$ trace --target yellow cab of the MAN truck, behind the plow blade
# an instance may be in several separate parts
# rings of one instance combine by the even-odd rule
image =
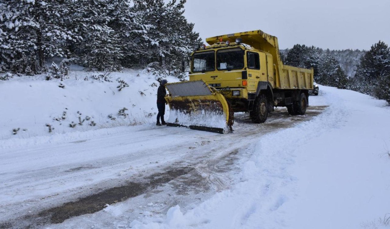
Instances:
[[[234,112],[248,110],[248,100],[255,100],[258,82],[273,87],[271,54],[250,45],[218,42],[198,48],[191,55],[190,80],[204,80],[222,90]]]

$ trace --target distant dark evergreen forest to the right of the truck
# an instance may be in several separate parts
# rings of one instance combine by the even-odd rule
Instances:
[[[390,48],[384,42],[359,50],[323,50],[296,44],[281,51],[286,65],[314,68],[314,79],[325,86],[351,89],[390,103]]]

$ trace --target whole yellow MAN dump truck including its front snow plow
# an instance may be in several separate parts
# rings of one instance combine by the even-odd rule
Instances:
[[[226,133],[234,112],[265,122],[274,107],[303,115],[313,69],[282,63],[278,39],[254,30],[206,39],[191,54],[190,81],[167,84],[168,126]]]

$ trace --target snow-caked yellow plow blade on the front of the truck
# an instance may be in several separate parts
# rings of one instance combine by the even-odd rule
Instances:
[[[232,131],[233,113],[222,94],[203,80],[166,84],[170,107],[167,126],[227,133]]]

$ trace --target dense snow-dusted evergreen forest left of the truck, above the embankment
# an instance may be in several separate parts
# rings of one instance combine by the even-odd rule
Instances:
[[[117,71],[158,62],[184,71],[200,42],[186,0],[0,0],[0,72],[33,75],[52,57]]]

